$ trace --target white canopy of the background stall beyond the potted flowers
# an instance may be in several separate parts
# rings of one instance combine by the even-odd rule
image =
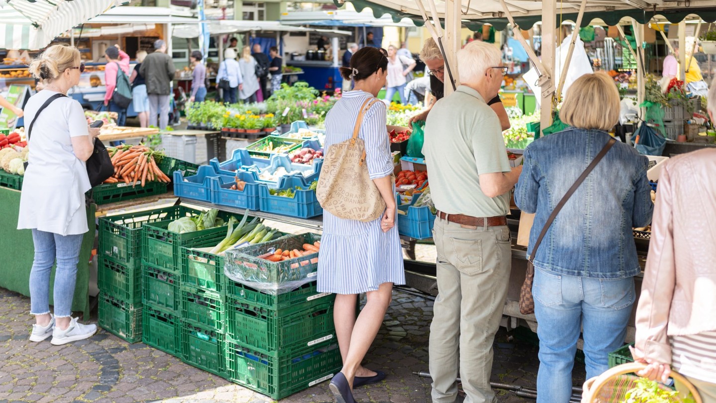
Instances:
[[[208,32],[212,35],[233,34],[236,32],[322,32],[327,36],[350,35],[350,32],[338,29],[309,29],[284,25],[278,21],[234,21],[220,20],[206,22]],[[174,27],[172,35],[178,38],[196,38],[199,36],[198,24],[181,24]]]

